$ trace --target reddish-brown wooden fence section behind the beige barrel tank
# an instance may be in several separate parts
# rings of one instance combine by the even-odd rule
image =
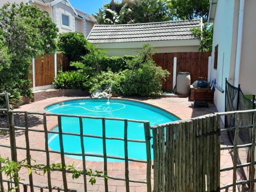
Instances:
[[[156,53],[153,59],[157,65],[166,69],[170,75],[163,82],[164,91],[173,91],[173,70],[174,57],[177,57],[177,72],[187,71],[190,73],[191,82],[200,77],[207,80],[208,77],[208,58],[210,52],[181,52],[181,53]]]

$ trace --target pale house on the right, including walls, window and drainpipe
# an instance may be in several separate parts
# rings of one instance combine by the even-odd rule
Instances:
[[[225,78],[244,94],[256,94],[256,1],[211,0],[209,22],[214,24],[211,79],[225,90]],[[219,112],[225,111],[225,92],[215,91]]]

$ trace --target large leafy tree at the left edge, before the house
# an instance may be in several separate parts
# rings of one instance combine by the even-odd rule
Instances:
[[[36,6],[7,3],[0,9],[0,92],[16,95],[16,101],[19,96],[31,96],[31,59],[56,49],[57,32],[49,14]]]

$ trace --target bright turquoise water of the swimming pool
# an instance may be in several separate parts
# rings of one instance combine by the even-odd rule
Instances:
[[[124,119],[136,119],[150,121],[151,125],[176,121],[178,118],[164,110],[141,102],[111,99],[106,104],[106,99],[81,99],[70,100],[48,106],[45,110],[51,113],[115,117]],[[62,132],[80,133],[79,119],[76,117],[61,117]],[[124,137],[124,122],[106,120],[106,137]],[[128,122],[128,139],[145,140],[143,123]],[[58,127],[54,128],[58,131]],[[102,136],[101,119],[83,119],[83,134]],[[63,135],[65,152],[81,153],[79,136]],[[49,134],[49,147],[60,151],[58,134]],[[84,137],[84,151],[86,153],[103,154],[102,139]],[[121,140],[106,140],[106,153],[109,156],[124,157],[124,142]],[[145,143],[128,142],[129,158],[146,159]],[[81,159],[81,156],[69,156]],[[153,153],[152,153],[153,157]],[[103,161],[103,158],[86,157],[89,161]],[[122,160],[110,159],[109,162]]]

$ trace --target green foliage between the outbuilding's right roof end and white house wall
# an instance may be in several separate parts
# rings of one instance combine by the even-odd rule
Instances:
[[[192,34],[196,37],[201,39],[200,42],[200,51],[209,51],[212,50],[212,38],[214,36],[214,27],[211,24],[205,23],[203,25],[203,31],[201,28],[193,28]]]

